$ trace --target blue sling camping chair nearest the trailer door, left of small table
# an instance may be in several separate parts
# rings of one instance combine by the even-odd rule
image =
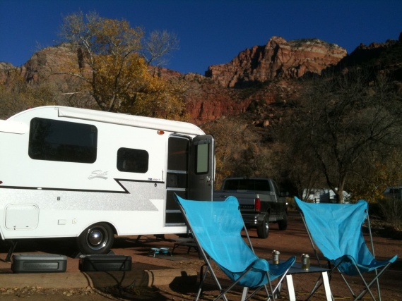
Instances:
[[[220,298],[227,300],[225,294],[235,285],[241,285],[244,288],[242,300],[249,300],[261,288],[265,288],[267,300],[270,298],[275,300],[283,278],[295,263],[295,257],[281,264],[270,265],[265,259],[260,259],[254,254],[236,197],[227,197],[219,202],[193,201],[182,199],[177,195],[175,199],[179,202],[187,226],[199,245],[199,252],[206,263],[206,271],[202,272],[201,269],[201,281],[196,300],[199,300],[208,272],[220,290],[220,295],[215,300]],[[246,231],[249,245],[242,238],[240,233],[242,229]],[[211,259],[232,281],[225,290],[213,271]],[[278,282],[273,288],[271,281],[275,279],[278,279]],[[266,284],[269,286],[269,291]],[[253,288],[254,292],[247,297],[248,288]]]

